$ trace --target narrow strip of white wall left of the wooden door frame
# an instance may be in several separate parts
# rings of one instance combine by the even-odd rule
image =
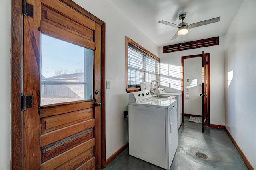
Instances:
[[[0,169],[11,160],[11,1],[0,0]]]

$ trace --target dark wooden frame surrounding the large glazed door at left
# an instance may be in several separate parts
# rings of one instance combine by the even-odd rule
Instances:
[[[100,20],[72,0],[61,0],[101,26],[101,167],[106,166],[106,129],[105,129],[105,30]],[[21,93],[23,86],[23,1],[12,0],[11,34],[11,113],[12,113],[12,160],[11,169],[23,169],[23,112],[21,111]]]

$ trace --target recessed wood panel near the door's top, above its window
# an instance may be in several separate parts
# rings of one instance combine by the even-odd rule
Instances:
[[[90,41],[94,41],[94,31],[92,29],[84,27],[84,25],[58,14],[46,6],[42,6],[42,21],[46,21],[52,25],[70,31],[76,35],[89,39]]]

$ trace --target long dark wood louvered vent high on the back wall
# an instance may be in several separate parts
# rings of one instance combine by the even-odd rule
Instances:
[[[200,39],[196,41],[190,41],[190,42],[182,43],[182,46],[180,45],[180,43],[174,44],[174,45],[167,45],[163,47],[163,53],[171,53],[174,51],[209,47],[213,45],[219,45],[219,37],[212,37],[212,38]]]

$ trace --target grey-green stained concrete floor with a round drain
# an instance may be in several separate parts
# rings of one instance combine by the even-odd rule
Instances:
[[[206,127],[191,123],[185,117],[178,130],[178,148],[170,170],[248,170],[240,154],[224,129]],[[202,152],[208,159],[198,158]],[[104,170],[163,170],[162,168],[129,155],[124,150]]]

